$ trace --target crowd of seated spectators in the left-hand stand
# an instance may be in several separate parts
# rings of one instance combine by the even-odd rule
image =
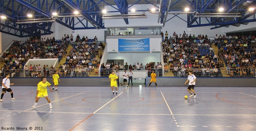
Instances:
[[[40,76],[41,70],[31,70],[28,65],[25,65],[27,60],[29,58],[58,58],[60,62],[60,59],[67,54],[68,45],[71,45],[73,48],[68,52],[66,63],[58,69],[60,76],[88,76],[94,70],[93,66],[99,65],[102,57],[102,53],[99,53],[98,49],[102,51],[104,46],[101,42],[98,45],[97,42],[96,36],[93,39],[88,39],[87,36],[81,39],[79,35],[73,41],[72,34],[70,37],[65,34],[62,40],[55,40],[54,37],[40,40],[35,37],[26,42],[14,41],[10,49],[3,53],[1,62],[4,63],[4,66],[1,67],[0,74],[4,76],[5,73],[11,73],[11,77],[13,77],[19,76],[24,71],[26,77],[35,77],[38,74]],[[99,60],[95,57],[96,55],[100,57]],[[42,74],[51,76],[51,70],[52,68],[48,65],[44,65]]]

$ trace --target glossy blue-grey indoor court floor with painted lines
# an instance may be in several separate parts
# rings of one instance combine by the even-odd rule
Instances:
[[[195,87],[196,98],[187,86],[58,87],[32,108],[36,87],[11,87],[0,103],[0,126],[29,130],[256,130],[255,87]],[[1,130],[4,130],[3,128]]]

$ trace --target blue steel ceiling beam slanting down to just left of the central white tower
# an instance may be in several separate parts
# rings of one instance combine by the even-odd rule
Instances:
[[[90,15],[88,15],[87,13],[85,13],[80,7],[79,4],[76,5],[72,0],[63,0],[62,2],[64,2],[65,4],[67,4],[70,8],[72,8],[73,10],[79,12],[80,15],[82,15],[88,22],[90,22],[96,29],[102,28],[102,26],[97,23],[94,19],[92,19],[92,17]]]

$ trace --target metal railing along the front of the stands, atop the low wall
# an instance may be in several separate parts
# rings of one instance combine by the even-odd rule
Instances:
[[[187,77],[188,76],[188,70],[192,70],[193,74],[196,77],[256,77],[256,69],[255,68],[231,68],[231,69],[225,69],[225,68],[219,68],[219,69],[213,69],[213,68],[168,68],[167,71],[164,68],[161,69],[150,69],[150,70],[140,70],[137,71],[136,69],[132,70],[132,72],[141,72],[141,73],[147,73],[147,76],[150,76],[152,71],[155,71],[156,75],[158,77]],[[72,69],[11,69],[11,70],[0,70],[0,77],[5,77],[6,73],[9,73],[11,77],[52,77],[53,74],[57,71],[60,77],[88,77],[88,76],[102,76],[106,77],[108,76],[111,71],[114,70],[116,73],[116,70],[118,70],[118,73],[120,74],[120,77],[122,77],[122,74],[124,70],[127,70],[127,74],[129,72],[129,69],[98,69],[98,68],[87,68],[87,67],[76,67]],[[136,75],[134,75],[136,77]]]

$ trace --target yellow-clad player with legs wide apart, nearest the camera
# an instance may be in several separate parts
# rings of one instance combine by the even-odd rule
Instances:
[[[46,100],[48,101],[49,105],[50,105],[50,109],[52,109],[52,104],[50,99],[48,98],[48,93],[47,93],[47,88],[49,87],[49,89],[51,91],[53,91],[51,89],[51,84],[46,80],[46,77],[42,77],[41,81],[37,84],[37,91],[36,91],[36,102],[35,104],[32,106],[33,108],[36,108],[37,102],[40,99],[40,97],[45,97]]]

